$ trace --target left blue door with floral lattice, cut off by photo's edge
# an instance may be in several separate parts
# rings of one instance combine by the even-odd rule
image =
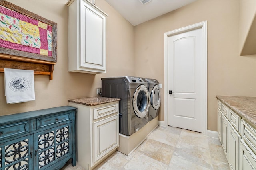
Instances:
[[[33,135],[0,144],[0,169],[33,170]]]

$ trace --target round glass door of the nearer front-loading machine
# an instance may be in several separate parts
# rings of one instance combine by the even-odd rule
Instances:
[[[148,113],[148,108],[150,105],[150,94],[145,85],[140,85],[134,92],[133,96],[133,109],[135,114],[143,118]]]

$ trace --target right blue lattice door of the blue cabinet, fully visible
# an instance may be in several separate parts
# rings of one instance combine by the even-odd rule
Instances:
[[[34,134],[35,169],[46,169],[72,154],[71,123]]]

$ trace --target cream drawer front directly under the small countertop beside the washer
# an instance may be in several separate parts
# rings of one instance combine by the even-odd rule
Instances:
[[[113,113],[118,113],[118,103],[94,108],[93,109],[93,119],[96,120],[101,117],[111,115]]]

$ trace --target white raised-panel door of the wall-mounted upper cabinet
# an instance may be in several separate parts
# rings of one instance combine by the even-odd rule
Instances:
[[[80,67],[105,71],[106,16],[80,2]]]

